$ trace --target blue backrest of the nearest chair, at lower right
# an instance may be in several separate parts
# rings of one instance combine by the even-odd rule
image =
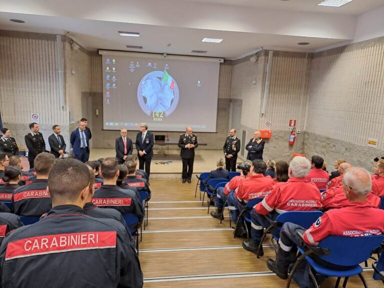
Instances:
[[[330,250],[321,259],[340,266],[352,266],[364,262],[384,240],[384,235],[374,236],[328,236],[318,244]]]

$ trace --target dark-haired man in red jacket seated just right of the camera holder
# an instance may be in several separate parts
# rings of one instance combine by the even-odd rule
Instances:
[[[263,160],[256,159],[252,161],[249,174],[235,192],[231,192],[228,195],[228,208],[231,218],[235,223],[239,211],[241,211],[246,202],[253,198],[262,198],[268,193],[274,184],[271,177],[265,177],[266,164]],[[242,221],[238,221],[239,226],[236,227],[235,235],[243,235],[246,233],[245,227]]]

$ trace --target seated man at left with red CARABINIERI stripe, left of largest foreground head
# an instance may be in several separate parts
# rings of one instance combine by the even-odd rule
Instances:
[[[48,175],[55,162],[53,154],[42,152],[34,158],[36,179],[13,192],[11,211],[22,216],[37,216],[49,211],[52,200],[46,190]],[[61,161],[61,160],[60,160]]]

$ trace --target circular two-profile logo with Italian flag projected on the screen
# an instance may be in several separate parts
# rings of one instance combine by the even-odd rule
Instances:
[[[169,116],[178,103],[177,83],[166,70],[150,72],[138,84],[137,100],[145,114],[154,118]]]

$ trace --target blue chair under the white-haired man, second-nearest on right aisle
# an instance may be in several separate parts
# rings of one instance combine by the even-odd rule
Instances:
[[[280,233],[280,229],[282,224],[285,222],[292,222],[294,224],[300,225],[304,229],[309,228],[320,216],[322,215],[321,211],[286,211],[279,214],[276,219],[273,221],[267,215],[265,215],[265,219],[270,222],[270,225],[264,230],[262,234],[260,244],[258,245],[257,250],[257,258],[260,258],[260,250],[262,247],[262,242],[264,241],[266,234],[270,232],[271,229],[276,229],[278,233]],[[272,244],[274,247],[274,251],[277,253],[279,234],[272,234]]]

